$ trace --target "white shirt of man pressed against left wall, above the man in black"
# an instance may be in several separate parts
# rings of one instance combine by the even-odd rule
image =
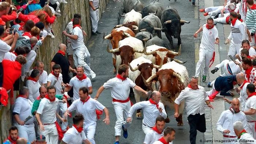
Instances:
[[[75,27],[72,31],[72,35],[78,36],[78,39],[76,40],[71,39],[72,50],[84,46],[83,31],[80,29],[80,27]]]

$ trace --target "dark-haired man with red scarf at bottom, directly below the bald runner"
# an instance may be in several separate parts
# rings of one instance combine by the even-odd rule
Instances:
[[[165,118],[158,116],[155,120],[155,126],[146,134],[143,144],[153,144],[163,136],[163,129],[165,128]]]

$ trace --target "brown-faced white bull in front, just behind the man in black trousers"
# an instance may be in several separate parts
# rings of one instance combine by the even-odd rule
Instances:
[[[149,77],[145,83],[158,80],[160,84],[161,102],[164,106],[174,109],[174,101],[182,90],[188,85],[188,71],[186,67],[175,61],[164,64],[157,73]],[[179,106],[179,117],[176,118],[178,126],[183,126],[182,113],[184,102]]]

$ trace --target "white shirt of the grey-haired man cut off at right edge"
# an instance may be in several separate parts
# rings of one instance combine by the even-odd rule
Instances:
[[[256,110],[256,95],[253,95],[252,97],[248,98],[245,103],[245,109],[244,111],[249,111],[250,109]],[[247,121],[256,121],[256,114],[253,115],[245,115]]]

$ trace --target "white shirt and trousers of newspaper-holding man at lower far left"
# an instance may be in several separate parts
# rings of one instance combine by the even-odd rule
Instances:
[[[19,119],[25,121],[26,118],[31,114],[33,102],[29,99],[26,99],[22,96],[19,96],[14,103],[14,109],[12,113],[18,113]],[[32,117],[30,120],[25,122],[24,125],[19,125],[14,119],[14,125],[18,128],[19,137],[25,138],[29,143],[35,140],[35,128],[34,128],[34,119]]]

